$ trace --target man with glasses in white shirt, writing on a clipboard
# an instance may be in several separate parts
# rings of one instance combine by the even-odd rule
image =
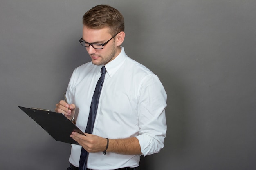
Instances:
[[[55,111],[75,119],[85,132],[103,66],[106,73],[92,134],[70,135],[81,145],[72,144],[70,169],[86,161],[92,170],[135,170],[141,155],[164,147],[166,92],[156,75],[126,55],[124,37],[124,18],[117,9],[98,5],[83,16],[80,43],[92,62],[74,70],[66,93],[69,104],[61,100]],[[81,160],[81,150],[88,152],[86,160]]]

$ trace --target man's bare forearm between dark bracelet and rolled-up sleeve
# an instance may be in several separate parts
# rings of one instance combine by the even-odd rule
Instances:
[[[106,152],[114,152],[124,155],[141,155],[139,140],[136,137],[126,139],[109,139]]]

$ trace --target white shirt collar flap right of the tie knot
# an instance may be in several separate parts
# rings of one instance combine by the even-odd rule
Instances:
[[[119,53],[119,55],[117,55],[114,60],[105,65],[106,71],[110,77],[112,77],[117,72],[117,70],[124,63],[126,57],[127,55],[124,52],[124,47],[121,47],[121,52]]]

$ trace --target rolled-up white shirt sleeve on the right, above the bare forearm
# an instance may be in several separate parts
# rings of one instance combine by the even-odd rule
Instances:
[[[141,80],[139,88],[139,135],[137,139],[142,155],[158,153],[166,137],[167,95],[157,75],[150,74]]]

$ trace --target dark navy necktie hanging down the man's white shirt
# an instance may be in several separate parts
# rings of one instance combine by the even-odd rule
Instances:
[[[92,96],[92,103],[90,107],[89,117],[87,121],[87,126],[85,129],[85,133],[92,134],[95,117],[97,113],[98,103],[99,103],[99,96],[101,95],[101,88],[103,86],[104,78],[105,78],[106,68],[103,66],[101,68],[101,77],[99,78],[95,91]],[[86,158],[87,158],[88,152],[82,147],[81,155],[80,155],[80,161],[79,161],[79,170],[86,170]]]

